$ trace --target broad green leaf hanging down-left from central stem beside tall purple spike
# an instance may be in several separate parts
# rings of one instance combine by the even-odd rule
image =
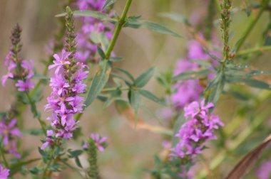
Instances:
[[[106,86],[110,72],[111,67],[109,67],[108,63],[104,61],[103,66],[100,70],[98,70],[98,72],[96,72],[93,82],[91,83],[91,89],[89,89],[85,101],[86,107],[88,107],[94,101],[94,99],[98,97],[98,94],[100,94],[103,87]]]

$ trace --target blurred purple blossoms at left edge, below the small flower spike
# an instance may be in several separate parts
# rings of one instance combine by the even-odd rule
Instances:
[[[11,121],[3,119],[0,121],[0,136],[2,137],[5,148],[9,148],[9,153],[16,158],[21,158],[21,155],[17,151],[16,137],[21,138],[21,132],[16,127],[17,119],[11,119]]]

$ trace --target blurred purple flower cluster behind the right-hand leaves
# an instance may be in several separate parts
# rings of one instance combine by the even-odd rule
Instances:
[[[218,53],[215,53],[218,55]],[[188,70],[198,70],[200,65],[193,63],[191,60],[210,60],[210,57],[203,47],[196,40],[191,40],[188,43],[188,55],[187,58],[177,61],[176,68],[174,70],[174,76],[179,75],[182,72]],[[213,60],[211,60],[213,65],[216,65]],[[213,78],[213,75],[209,75],[208,79]],[[200,99],[200,94],[203,92],[203,87],[200,86],[198,79],[194,80],[180,80],[173,86],[173,94],[171,95],[171,102],[175,109],[183,109],[186,104],[198,101]]]

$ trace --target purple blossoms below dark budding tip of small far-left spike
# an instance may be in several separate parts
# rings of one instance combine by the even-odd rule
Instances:
[[[8,73],[1,77],[3,86],[6,80],[11,78],[17,80],[15,86],[18,87],[18,90],[21,92],[34,88],[34,84],[31,82],[31,77],[34,75],[33,60],[21,60],[16,58],[16,55],[14,55],[12,51],[9,51],[9,54],[6,55],[5,65],[8,67]]]

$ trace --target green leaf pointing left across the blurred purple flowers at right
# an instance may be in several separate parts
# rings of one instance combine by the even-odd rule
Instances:
[[[186,71],[173,77],[173,82],[177,82],[178,80],[188,80],[188,79],[194,79],[198,77],[206,77],[209,73],[210,73],[210,70],[208,69],[198,70],[198,71]]]

